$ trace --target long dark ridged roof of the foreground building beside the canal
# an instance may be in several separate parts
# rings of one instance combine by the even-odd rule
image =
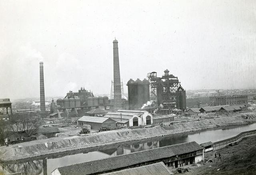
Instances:
[[[172,157],[202,149],[202,146],[200,146],[195,141],[192,141],[188,143],[170,145],[166,147],[149,149],[146,151],[139,151],[126,155],[108,157],[106,159],[59,167],[58,171],[62,175],[90,175],[92,173],[99,173],[103,171],[124,168],[143,162]]]

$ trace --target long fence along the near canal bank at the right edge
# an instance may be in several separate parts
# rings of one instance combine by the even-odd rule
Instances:
[[[225,140],[216,141],[216,142],[213,143],[213,149],[217,150],[217,149],[224,148],[227,145],[229,145],[230,143],[238,142],[238,141],[242,140],[243,138],[249,137],[249,136],[252,136],[252,135],[256,135],[256,129],[251,130],[251,131],[244,131],[244,132],[242,132],[242,133],[240,133],[240,134],[238,134],[234,137],[231,137],[231,138],[228,138],[228,139],[225,139]]]

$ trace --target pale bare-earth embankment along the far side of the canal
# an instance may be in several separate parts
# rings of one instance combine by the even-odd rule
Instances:
[[[246,119],[246,117],[248,119]],[[250,119],[249,119],[250,118]],[[120,129],[105,131],[101,133],[91,133],[86,136],[72,137],[53,137],[10,145],[9,147],[0,147],[1,161],[10,161],[15,159],[24,159],[52,153],[109,145],[114,143],[147,139],[163,135],[197,131],[202,129],[214,128],[228,125],[242,125],[256,121],[256,113],[248,112],[230,117],[219,117],[214,119],[205,119],[202,121],[191,121],[186,123],[176,123],[173,125],[164,125],[164,127],[152,127],[142,129]]]

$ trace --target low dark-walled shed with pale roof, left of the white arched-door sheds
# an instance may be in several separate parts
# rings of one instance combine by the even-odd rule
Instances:
[[[78,119],[78,126],[90,125],[91,129],[98,130],[102,127],[116,127],[116,121],[108,117],[92,117],[92,116],[83,116]]]

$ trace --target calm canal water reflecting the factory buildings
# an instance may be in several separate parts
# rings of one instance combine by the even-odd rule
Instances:
[[[54,169],[65,165],[93,161],[96,159],[190,141],[196,141],[199,144],[208,141],[215,142],[233,137],[243,131],[253,129],[256,129],[256,123],[242,126],[218,127],[214,129],[143,139],[140,141],[129,141],[96,148],[68,151],[66,153],[53,154],[47,157],[29,158],[5,164],[11,171],[22,172],[22,175],[50,175]]]

